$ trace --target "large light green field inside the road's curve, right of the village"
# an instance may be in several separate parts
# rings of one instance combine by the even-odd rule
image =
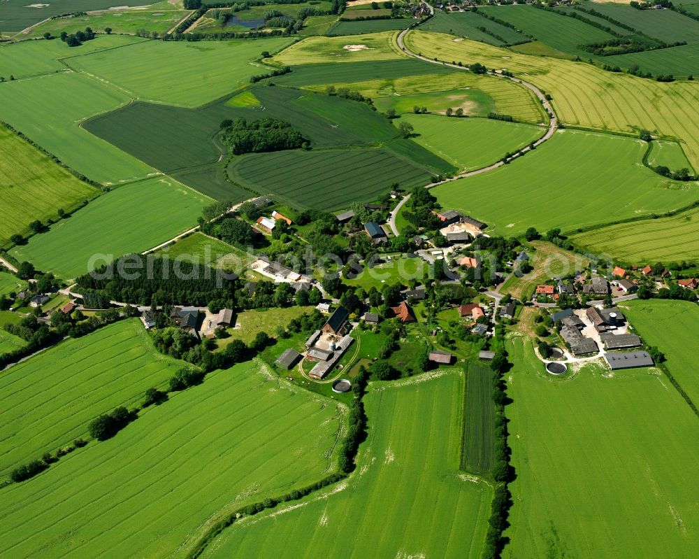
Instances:
[[[645,149],[640,140],[559,130],[526,157],[443,183],[432,193],[442,207],[475,215],[507,236],[528,227],[575,231],[695,201],[696,184],[672,181],[641,164]]]

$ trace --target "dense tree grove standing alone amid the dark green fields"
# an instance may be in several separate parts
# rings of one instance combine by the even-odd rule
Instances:
[[[263,118],[248,122],[245,118],[221,122],[221,139],[235,155],[301,148],[305,139],[288,122]]]

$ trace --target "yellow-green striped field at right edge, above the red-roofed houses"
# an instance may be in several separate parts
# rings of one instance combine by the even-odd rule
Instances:
[[[637,264],[695,260],[699,254],[699,208],[670,218],[620,223],[574,234],[571,240],[596,253]]]

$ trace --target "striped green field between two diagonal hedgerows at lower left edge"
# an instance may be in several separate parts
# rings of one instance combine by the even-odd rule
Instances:
[[[10,367],[0,375],[0,476],[89,437],[93,418],[140,403],[183,365],[158,353],[140,320],[130,319]]]

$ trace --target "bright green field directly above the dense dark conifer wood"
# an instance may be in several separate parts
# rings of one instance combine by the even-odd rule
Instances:
[[[166,178],[131,183],[99,197],[70,219],[11,251],[43,271],[75,278],[126,253],[142,252],[196,225],[211,203]]]

